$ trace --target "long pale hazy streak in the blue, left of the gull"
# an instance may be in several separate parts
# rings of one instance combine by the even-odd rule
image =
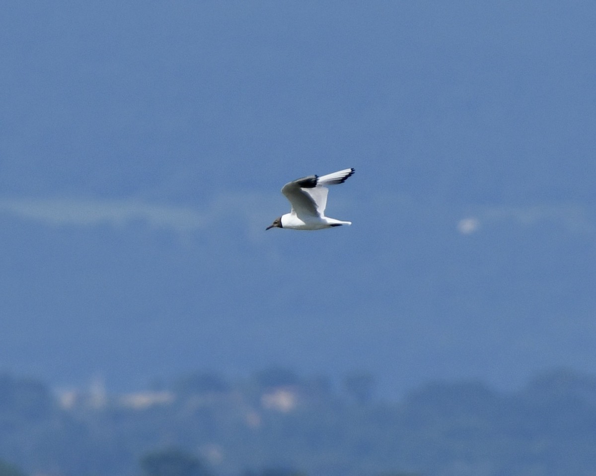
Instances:
[[[207,217],[191,207],[143,203],[136,200],[0,199],[0,213],[48,225],[124,226],[141,221],[154,228],[179,232],[203,228]]]

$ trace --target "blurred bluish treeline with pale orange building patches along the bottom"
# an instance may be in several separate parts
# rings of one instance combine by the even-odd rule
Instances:
[[[0,375],[0,476],[593,476],[596,377],[501,393],[430,382],[399,402],[280,368],[197,372],[131,394]]]

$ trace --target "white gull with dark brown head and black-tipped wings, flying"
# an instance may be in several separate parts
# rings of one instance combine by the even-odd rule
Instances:
[[[352,225],[352,222],[342,222],[325,216],[327,192],[325,185],[343,183],[354,173],[354,169],[343,169],[319,177],[309,175],[301,179],[286,183],[281,193],[290,200],[292,209],[274,220],[269,228],[289,228],[292,230],[322,230],[331,226]]]

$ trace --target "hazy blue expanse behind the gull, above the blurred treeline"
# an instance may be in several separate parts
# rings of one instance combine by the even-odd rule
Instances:
[[[364,368],[396,393],[585,366],[595,16],[6,2],[0,367],[114,387]],[[265,234],[286,181],[345,167],[328,211],[352,227]]]

